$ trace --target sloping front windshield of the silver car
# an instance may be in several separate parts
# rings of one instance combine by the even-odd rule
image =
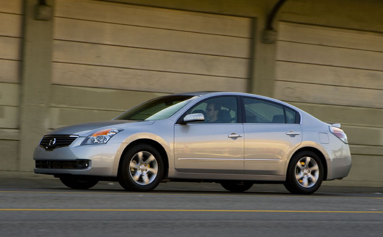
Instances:
[[[160,120],[175,114],[197,96],[165,96],[147,101],[121,114],[115,120]]]

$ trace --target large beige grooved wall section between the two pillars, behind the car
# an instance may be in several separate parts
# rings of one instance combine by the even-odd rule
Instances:
[[[251,19],[57,0],[53,22],[50,128],[169,93],[247,90]]]

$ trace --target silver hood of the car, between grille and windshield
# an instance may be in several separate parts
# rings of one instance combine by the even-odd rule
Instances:
[[[81,124],[69,125],[69,126],[54,129],[48,132],[46,135],[53,135],[53,134],[64,135],[65,134],[65,135],[79,135],[79,136],[86,137],[102,128],[108,128],[108,127],[123,128],[123,127],[145,125],[145,124],[152,124],[152,123],[154,123],[154,121],[134,121],[134,120],[108,120],[108,121],[99,121],[99,122],[91,122],[91,123],[81,123]]]

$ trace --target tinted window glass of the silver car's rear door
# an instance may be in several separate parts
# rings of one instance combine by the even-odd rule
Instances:
[[[243,98],[246,123],[298,123],[297,112],[280,104]]]

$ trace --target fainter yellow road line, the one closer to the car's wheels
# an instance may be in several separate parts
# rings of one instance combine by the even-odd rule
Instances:
[[[187,191],[190,192],[190,191]],[[198,191],[196,191],[198,192]],[[203,194],[203,193],[157,193],[157,192],[148,192],[148,193],[136,193],[136,192],[57,192],[57,191],[0,191],[0,193],[70,193],[70,194],[120,194],[120,195],[175,195],[175,196],[242,196],[242,197],[311,197],[311,198],[368,198],[368,199],[383,199],[383,197],[350,197],[350,196],[317,196],[317,195],[261,195],[261,194]]]

